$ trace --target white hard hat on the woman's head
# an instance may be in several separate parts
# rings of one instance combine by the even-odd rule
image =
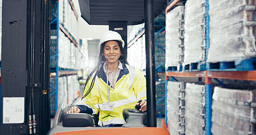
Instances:
[[[116,31],[106,31],[100,37],[99,50],[100,50],[100,45],[102,43],[107,42],[107,41],[111,41],[111,40],[120,41],[122,43],[122,47],[124,48],[124,40],[122,40],[122,36],[119,33],[117,33]]]

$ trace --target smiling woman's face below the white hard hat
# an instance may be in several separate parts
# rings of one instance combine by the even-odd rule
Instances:
[[[109,63],[116,63],[120,58],[121,50],[116,41],[108,41],[104,45],[104,56]]]

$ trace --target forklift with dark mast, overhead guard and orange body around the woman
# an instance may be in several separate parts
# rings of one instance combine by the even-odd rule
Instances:
[[[127,26],[145,22],[147,113],[124,109],[126,127],[94,127],[92,116],[66,114],[68,107],[59,104],[56,126],[51,129],[51,1],[3,0],[0,134],[170,134],[156,127],[154,58],[154,17],[164,12],[167,3],[166,0],[79,0],[81,17],[90,25],[108,25],[109,30],[118,32],[125,41],[126,54]],[[72,121],[78,125],[68,124]]]

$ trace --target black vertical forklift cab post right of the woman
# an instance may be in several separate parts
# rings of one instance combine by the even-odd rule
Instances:
[[[154,45],[154,1],[144,0],[146,77],[147,77],[147,126],[156,127],[156,65]]]

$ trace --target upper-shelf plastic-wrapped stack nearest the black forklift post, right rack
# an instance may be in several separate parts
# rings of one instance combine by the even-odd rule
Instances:
[[[183,22],[182,22],[183,21]],[[184,6],[177,6],[166,14],[165,67],[178,67],[184,60]]]

